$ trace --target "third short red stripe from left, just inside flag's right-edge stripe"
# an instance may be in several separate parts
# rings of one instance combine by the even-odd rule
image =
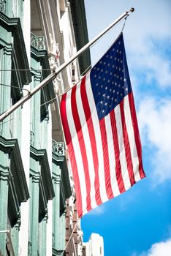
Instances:
[[[124,109],[123,109],[124,108],[123,102],[124,102],[124,99],[120,103],[122,129],[123,129],[123,143],[124,143],[125,154],[126,154],[127,168],[129,171],[129,179],[130,179],[131,185],[133,186],[135,184],[135,180],[134,180],[134,172],[133,172],[133,165],[132,165],[132,154],[131,154],[130,145],[129,145],[129,136],[128,136],[128,132],[126,129],[126,121],[125,121],[125,114],[124,114]]]

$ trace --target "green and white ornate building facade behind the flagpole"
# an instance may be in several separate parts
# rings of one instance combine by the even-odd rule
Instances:
[[[1,0],[0,114],[86,42],[82,0]],[[90,64],[87,51],[0,123],[0,255],[82,255],[58,95]]]

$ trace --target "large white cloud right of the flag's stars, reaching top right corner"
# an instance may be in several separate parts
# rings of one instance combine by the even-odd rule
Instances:
[[[145,83],[155,81],[153,86],[171,87],[170,56],[164,53],[171,44],[171,2],[151,0],[132,4],[135,11],[124,31],[129,67],[143,76]]]

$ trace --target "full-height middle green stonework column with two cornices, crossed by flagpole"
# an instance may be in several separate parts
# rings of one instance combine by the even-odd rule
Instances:
[[[36,35],[34,35],[35,38],[37,38]],[[48,75],[42,70],[48,68],[46,50],[36,48],[34,44],[31,44],[32,89]],[[28,255],[46,255],[47,203],[55,195],[46,151],[47,124],[49,121],[48,104],[44,104],[49,100],[48,97],[53,97],[52,89],[52,86],[48,88],[48,94],[46,89],[42,89],[31,98],[31,199],[29,202]]]

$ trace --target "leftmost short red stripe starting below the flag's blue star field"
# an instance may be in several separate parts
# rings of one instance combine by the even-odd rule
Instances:
[[[107,134],[104,118],[99,121],[101,137],[102,137],[102,149],[103,149],[103,159],[104,159],[104,177],[107,197],[113,198],[113,189],[110,181],[110,164],[109,164],[109,152],[107,146]]]

